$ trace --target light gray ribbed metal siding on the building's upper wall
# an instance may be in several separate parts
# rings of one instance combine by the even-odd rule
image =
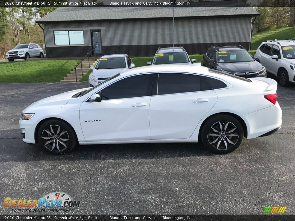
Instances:
[[[103,46],[172,43],[172,20],[52,23],[44,26],[46,47],[54,47],[54,30],[83,30],[85,46],[91,46],[90,30],[95,29],[101,29]],[[175,44],[250,42],[250,38],[251,17],[175,19]]]

